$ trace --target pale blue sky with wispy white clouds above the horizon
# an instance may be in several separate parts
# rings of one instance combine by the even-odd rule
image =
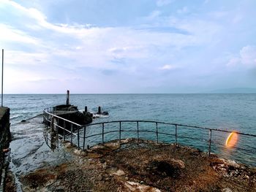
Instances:
[[[256,88],[255,0],[0,0],[4,93]]]

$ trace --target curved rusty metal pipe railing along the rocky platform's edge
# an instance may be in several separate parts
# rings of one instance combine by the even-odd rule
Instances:
[[[52,112],[53,110],[50,109],[50,112]],[[44,118],[44,122],[47,124],[48,126],[48,123],[50,123],[50,125],[52,124],[51,121],[53,120],[53,125],[52,126],[55,126],[56,129],[57,129],[57,138],[59,138],[59,134],[60,134],[60,130],[62,130],[63,132],[63,139],[67,139],[66,137],[69,137],[70,139],[70,142],[72,144],[73,143],[73,139],[76,137],[77,138],[77,145],[78,145],[78,149],[80,150],[85,150],[85,146],[86,146],[86,139],[88,138],[91,138],[91,137],[96,137],[96,136],[102,136],[102,145],[104,145],[105,143],[105,134],[110,134],[110,133],[115,133],[115,132],[118,132],[118,140],[119,142],[121,142],[121,132],[136,132],[137,133],[137,139],[139,141],[140,139],[140,132],[147,132],[147,133],[153,133],[153,134],[156,134],[156,139],[157,139],[157,143],[159,142],[159,134],[164,134],[166,136],[172,136],[174,137],[174,143],[175,143],[175,146],[178,145],[178,137],[179,138],[186,138],[186,139],[196,139],[196,140],[202,140],[204,142],[208,142],[208,155],[211,155],[211,150],[212,150],[212,144],[218,144],[218,145],[223,145],[222,143],[219,143],[219,142],[214,142],[213,139],[212,139],[212,134],[213,132],[212,131],[217,131],[217,132],[225,132],[225,133],[231,133],[232,131],[226,131],[226,130],[222,130],[222,129],[217,129],[217,128],[206,128],[206,127],[200,127],[200,126],[188,126],[188,125],[183,125],[183,124],[178,124],[178,123],[165,123],[165,122],[160,122],[160,121],[154,121],[154,120],[113,120],[113,121],[105,121],[105,122],[101,122],[101,123],[91,123],[91,124],[88,124],[88,125],[80,125],[78,123],[75,123],[75,122],[72,122],[71,120],[67,120],[67,119],[64,119],[64,118],[61,118],[59,117],[58,115],[54,115],[53,113],[50,113],[49,112],[49,109],[45,109],[43,111],[43,118]],[[54,123],[54,119],[56,119],[56,122],[57,123]],[[59,125],[59,120],[63,120],[63,127]],[[67,128],[67,124],[70,124],[70,130]],[[116,127],[117,129],[116,130],[113,130],[113,131],[105,131],[105,125],[108,125],[110,123],[115,123],[117,124]],[[122,125],[124,123],[136,123],[136,131],[135,130],[124,130],[122,129]],[[140,128],[140,123],[155,123],[155,131],[152,131],[152,130],[142,130]],[[101,133],[99,134],[95,134],[92,133],[92,134],[86,134],[86,131],[89,130],[90,127],[93,127],[93,126],[99,126],[101,125],[102,127],[102,131]],[[162,131],[159,131],[159,125],[165,125],[165,126],[168,126],[170,128],[170,126],[174,126],[174,131],[175,133],[174,134],[170,134],[170,132],[162,132]],[[74,130],[74,127],[76,128],[76,132],[77,134],[75,134],[75,130]],[[197,128],[197,129],[203,129],[203,130],[207,130],[208,131],[208,139],[199,139],[199,138],[195,138],[195,137],[187,137],[187,136],[182,136],[181,134],[178,136],[178,127],[182,127],[182,128]],[[80,129],[83,130],[83,136],[80,135]],[[68,135],[70,134],[70,136]],[[236,134],[238,135],[243,135],[243,136],[246,136],[246,137],[253,137],[253,138],[256,138],[256,135],[255,134],[246,134],[246,133],[241,133],[241,132],[236,132]],[[74,137],[74,138],[73,138]],[[82,143],[83,143],[83,147],[80,146],[80,139],[82,139]],[[252,152],[252,153],[256,153],[256,150],[249,150],[249,149],[244,149],[243,147],[234,147],[238,150],[246,150],[246,151],[249,151],[249,152]]]

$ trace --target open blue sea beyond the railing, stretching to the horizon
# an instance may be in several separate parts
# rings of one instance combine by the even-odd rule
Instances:
[[[44,108],[64,104],[65,101],[66,95],[64,94],[4,95],[4,106],[11,109],[11,131],[14,138],[23,138],[19,142],[16,138],[16,144],[12,144],[12,147],[18,147],[20,142],[27,141],[24,137],[28,128],[21,126],[20,120],[33,118],[42,114]],[[157,120],[256,135],[256,94],[71,94],[70,103],[78,106],[80,110],[87,106],[89,111],[96,112],[97,107],[101,106],[103,111],[109,112],[108,117],[97,118],[94,122]],[[208,131],[181,127],[178,129],[178,134],[206,139],[206,142],[199,142],[178,138],[178,142],[208,150]],[[215,132],[212,134],[213,140],[225,143],[227,134]],[[241,137],[238,146],[253,149],[256,152],[255,139]],[[173,142],[173,138],[169,137],[162,137],[162,140]],[[31,140],[28,142],[29,145],[33,145]],[[223,146],[213,145],[212,149],[225,158],[234,158],[236,161],[256,166],[255,154],[238,150],[229,151]]]

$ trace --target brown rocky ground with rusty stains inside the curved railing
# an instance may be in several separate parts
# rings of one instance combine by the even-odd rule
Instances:
[[[64,146],[75,158],[23,175],[23,191],[256,191],[255,168],[191,147],[137,139],[86,152]]]

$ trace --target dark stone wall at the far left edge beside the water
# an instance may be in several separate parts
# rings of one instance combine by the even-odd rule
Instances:
[[[11,141],[10,133],[10,109],[8,107],[0,108],[0,191],[4,191],[5,176],[8,163],[5,161],[5,155],[9,152]]]

